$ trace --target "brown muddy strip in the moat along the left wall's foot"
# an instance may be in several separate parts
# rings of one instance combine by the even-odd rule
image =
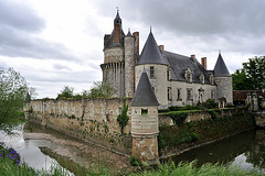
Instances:
[[[31,122],[32,123],[32,122]],[[34,125],[32,123],[31,125]],[[35,124],[39,127],[39,124]],[[42,127],[39,127],[42,128]],[[52,142],[52,145],[40,146],[41,151],[52,158],[55,158],[60,165],[73,173],[80,168],[99,169],[106,167],[117,174],[124,174],[132,169],[129,164],[129,157],[113,151],[106,150],[89,142],[60,134],[50,130],[50,133],[43,133],[41,130],[33,133],[25,130],[24,140],[44,140]]]

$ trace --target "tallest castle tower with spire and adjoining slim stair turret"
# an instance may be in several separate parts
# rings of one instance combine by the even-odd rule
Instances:
[[[138,57],[139,33],[125,35],[119,11],[114,19],[112,34],[104,37],[103,82],[116,89],[114,97],[132,97],[135,89],[135,63]]]

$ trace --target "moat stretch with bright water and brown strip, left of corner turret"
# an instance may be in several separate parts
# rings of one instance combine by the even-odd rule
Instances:
[[[0,141],[13,147],[29,166],[36,169],[49,170],[53,164],[60,164],[72,173],[78,173],[84,167],[97,169],[98,163],[117,173],[130,169],[125,156],[35,123],[23,123],[13,131],[17,135],[0,131]]]

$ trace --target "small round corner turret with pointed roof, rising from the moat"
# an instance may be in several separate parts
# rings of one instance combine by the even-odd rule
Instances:
[[[142,72],[131,100],[132,156],[148,164],[158,164],[158,100],[147,73]]]

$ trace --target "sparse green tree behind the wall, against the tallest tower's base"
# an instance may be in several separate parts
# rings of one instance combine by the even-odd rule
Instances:
[[[107,98],[112,97],[116,92],[109,84],[103,81],[94,81],[92,89],[89,90],[88,97],[91,98]]]

